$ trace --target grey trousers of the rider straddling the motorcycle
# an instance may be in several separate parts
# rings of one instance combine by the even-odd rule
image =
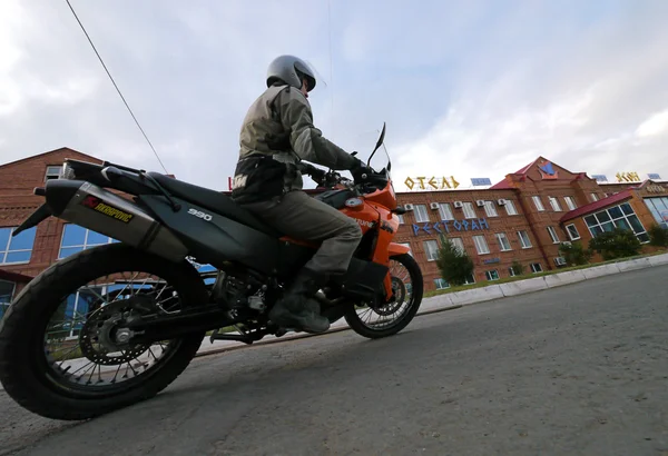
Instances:
[[[314,271],[345,272],[362,239],[362,229],[356,220],[304,191],[289,191],[281,200],[253,202],[244,207],[285,236],[322,240],[317,252],[305,265]]]

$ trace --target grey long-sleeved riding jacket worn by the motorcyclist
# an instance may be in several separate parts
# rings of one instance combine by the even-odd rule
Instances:
[[[313,126],[311,105],[289,86],[272,86],[248,109],[239,135],[239,162],[250,156],[272,156],[286,163],[284,190],[301,190],[298,159],[334,170],[352,169],[356,160]],[[237,170],[239,167],[237,166]],[[233,189],[243,190],[246,176],[235,175]]]

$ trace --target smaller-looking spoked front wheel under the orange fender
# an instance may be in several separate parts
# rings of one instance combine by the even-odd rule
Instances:
[[[402,269],[403,272],[401,271]],[[379,309],[365,307],[361,310],[355,306],[351,306],[344,315],[348,326],[363,337],[377,339],[393,336],[404,329],[413,320],[415,314],[418,314],[418,309],[420,309],[424,284],[418,261],[409,254],[391,257],[390,274],[392,275],[393,288],[397,300],[387,303]],[[411,296],[406,303],[405,299],[409,293]],[[386,318],[402,309],[403,311],[396,319]],[[365,321],[364,316],[373,316],[373,314],[380,316],[384,321],[375,324]]]

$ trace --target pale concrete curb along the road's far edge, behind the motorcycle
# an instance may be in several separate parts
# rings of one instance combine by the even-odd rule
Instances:
[[[511,281],[500,285],[489,285],[487,287],[473,288],[470,290],[454,291],[444,295],[436,295],[429,298],[424,298],[421,304],[421,309],[415,315],[430,315],[439,314],[442,311],[459,309],[463,306],[470,306],[472,304],[485,303],[494,299],[508,298],[520,295],[528,295],[536,291],[541,291],[550,288],[562,287],[570,284],[577,284],[583,280],[590,280],[603,276],[611,276],[615,274],[621,274],[639,269],[648,269],[652,267],[660,267],[668,265],[668,254],[655,255],[646,258],[631,259],[626,261],[617,261],[608,265],[593,266],[584,269],[568,270],[563,272],[557,272],[549,276],[534,277],[525,280]],[[195,357],[204,357],[208,355],[219,355],[227,351],[239,350],[243,348],[250,348],[254,346],[268,345],[268,344],[282,344],[298,339],[305,339],[311,337],[321,337],[327,334],[341,333],[350,330],[347,324],[331,328],[323,334],[295,334],[294,336],[276,337],[268,340],[258,340],[250,345],[237,341],[229,341],[229,346],[220,348],[212,348],[209,350],[202,349]],[[203,340],[203,346],[207,340]]]

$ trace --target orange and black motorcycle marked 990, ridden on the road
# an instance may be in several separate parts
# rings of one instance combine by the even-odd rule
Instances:
[[[390,157],[380,171],[371,167],[384,136],[383,125],[370,172],[358,181],[302,167],[320,184],[314,198],[363,231],[347,272],[316,298],[331,323],[344,318],[366,338],[404,329],[423,295],[418,262],[393,242],[404,210]],[[35,194],[45,202],[13,236],[57,217],[114,241],[56,261],[0,321],[0,381],[23,408],[53,419],[92,418],[159,394],[207,335],[212,343],[252,344],[297,330],[277,327],[267,315],[318,245],[276,231],[226,194],[71,159],[61,178]]]

